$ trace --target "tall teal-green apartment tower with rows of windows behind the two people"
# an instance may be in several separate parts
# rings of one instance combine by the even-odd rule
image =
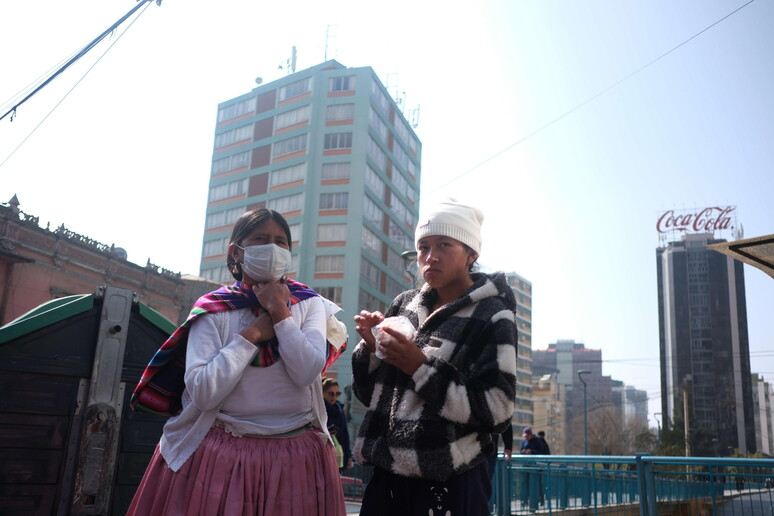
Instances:
[[[421,154],[370,67],[327,61],[221,103],[201,275],[231,282],[234,222],[277,210],[290,224],[292,276],[342,307],[351,350],[354,315],[412,286],[401,253],[414,248]],[[349,356],[334,368],[347,392]]]

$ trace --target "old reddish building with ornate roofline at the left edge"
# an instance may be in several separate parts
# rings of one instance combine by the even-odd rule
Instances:
[[[0,325],[46,301],[92,294],[101,285],[134,291],[176,324],[185,320],[192,300],[218,286],[150,263],[134,264],[123,249],[64,225],[43,228],[18,205],[0,204]]]

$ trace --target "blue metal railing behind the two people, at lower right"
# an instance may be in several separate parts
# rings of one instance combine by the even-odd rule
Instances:
[[[360,499],[372,469],[345,475]],[[492,491],[497,516],[774,516],[774,459],[515,455],[498,458]]]

